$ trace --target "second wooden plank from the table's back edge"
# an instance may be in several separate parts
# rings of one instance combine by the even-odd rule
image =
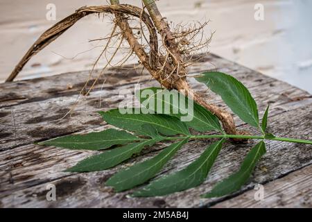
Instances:
[[[241,78],[243,83],[253,85],[249,89],[259,105],[260,114],[266,109],[268,102],[272,103],[270,114],[278,114],[311,103],[312,97],[307,92],[282,82],[279,82],[278,87],[275,87],[275,80],[263,77],[263,81],[258,81],[262,79],[259,77],[261,74],[256,74],[250,75],[249,78],[243,78],[243,76],[248,75],[246,72],[234,72],[234,76]],[[155,85],[157,85],[156,81],[150,80],[142,83],[141,87]],[[191,85],[202,96],[205,96],[208,101],[225,108],[224,103],[218,96],[212,97],[209,95],[205,85],[199,84],[194,80],[191,81]],[[40,89],[36,90],[40,92]],[[66,96],[60,94],[57,97],[47,98],[42,101],[19,103],[0,108],[0,123],[2,126],[0,151],[102,126],[103,121],[101,121],[96,111],[117,108],[121,101],[119,98],[121,90],[134,92],[134,83],[116,85],[110,87],[110,89],[95,90],[76,105],[76,109],[71,117],[67,116],[65,119],[62,119],[62,117],[75,103],[77,99],[76,94]],[[51,110],[53,112],[50,112]],[[242,122],[237,117],[235,118],[236,123],[240,125]]]

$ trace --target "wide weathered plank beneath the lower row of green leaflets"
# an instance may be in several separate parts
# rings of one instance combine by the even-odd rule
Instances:
[[[282,136],[286,137],[311,139],[311,117],[311,105],[284,112],[270,118],[269,130],[279,136],[282,133]],[[247,126],[240,128],[256,133]],[[190,142],[159,175],[185,167],[200,155],[209,142],[211,141]],[[6,172],[1,176],[1,202],[4,207],[157,207],[157,204],[158,207],[207,207],[222,201],[223,198],[201,199],[200,194],[209,191],[217,181],[236,171],[251,146],[252,144],[227,142],[209,178],[202,185],[161,198],[127,198],[129,191],[114,194],[110,188],[103,186],[103,182],[121,167],[146,160],[155,155],[155,152],[107,171],[77,174],[62,171],[90,155],[90,152],[35,145],[19,146],[14,150],[1,152],[1,159],[8,161],[1,166],[1,171]],[[312,163],[309,145],[268,142],[267,149],[268,153],[257,165],[252,182],[245,185],[238,194],[250,189],[255,183],[275,180]],[[263,171],[263,168],[266,171]],[[44,196],[46,185],[49,183],[55,184],[60,190],[69,187],[70,191],[65,194],[61,191],[58,201],[48,202]]]

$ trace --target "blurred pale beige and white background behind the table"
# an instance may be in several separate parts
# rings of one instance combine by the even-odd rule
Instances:
[[[46,19],[49,3],[55,5],[56,20]],[[121,3],[141,6],[139,0]],[[103,4],[107,2],[1,0],[0,82],[47,28],[81,6]],[[205,31],[207,35],[216,31],[210,44],[211,53],[312,93],[311,0],[159,0],[157,5],[163,16],[174,23],[210,19]],[[263,17],[259,19],[260,6]],[[91,69],[103,42],[89,40],[104,37],[111,28],[112,20],[108,17],[85,17],[32,58],[17,79]],[[103,64],[104,61],[99,67]]]

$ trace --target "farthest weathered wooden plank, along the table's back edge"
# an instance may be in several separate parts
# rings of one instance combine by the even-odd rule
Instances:
[[[133,67],[136,67],[135,69]],[[248,86],[264,83],[266,80],[272,81],[268,76],[259,75],[251,69],[241,67],[234,62],[230,62],[215,55],[202,58],[188,69],[189,74],[198,74],[201,71],[219,70],[236,74],[236,78],[245,78]],[[92,81],[100,74],[101,70],[95,70],[92,74]],[[89,76],[89,71],[72,72],[58,76],[35,78],[12,83],[0,84],[0,108],[17,105],[20,103],[31,103],[33,101],[44,101],[45,99],[59,96],[78,94],[85,85]],[[149,80],[150,74],[143,71],[137,65],[129,65],[123,69],[107,69],[98,79],[94,89],[112,89],[112,86],[124,85],[127,83],[137,83],[137,81]]]

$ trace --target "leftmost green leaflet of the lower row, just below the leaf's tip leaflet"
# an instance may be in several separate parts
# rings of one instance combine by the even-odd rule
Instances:
[[[134,144],[127,144],[120,148],[114,148],[110,151],[105,151],[99,155],[89,157],[74,167],[67,169],[69,172],[91,172],[102,171],[114,167],[121,162],[128,160],[132,155],[140,153],[144,146],[153,146],[157,140],[150,139],[145,142],[139,142]]]

